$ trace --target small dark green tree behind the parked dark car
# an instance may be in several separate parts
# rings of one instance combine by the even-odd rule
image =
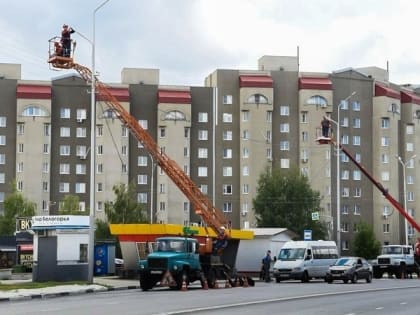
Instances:
[[[381,247],[373,228],[365,222],[359,223],[356,236],[353,239],[354,254],[366,259],[374,259],[380,254]]]

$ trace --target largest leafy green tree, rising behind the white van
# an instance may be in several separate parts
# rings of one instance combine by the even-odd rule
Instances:
[[[299,239],[304,230],[312,230],[313,239],[327,236],[326,224],[312,220],[312,212],[321,212],[319,192],[311,189],[297,168],[266,168],[258,180],[253,206],[259,227],[287,228]]]

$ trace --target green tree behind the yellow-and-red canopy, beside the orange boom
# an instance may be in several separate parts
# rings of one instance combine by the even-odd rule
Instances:
[[[112,190],[115,193],[113,202],[105,203],[105,214],[109,223],[145,223],[146,216],[143,206],[137,202],[135,186],[133,183],[129,185],[114,185]]]

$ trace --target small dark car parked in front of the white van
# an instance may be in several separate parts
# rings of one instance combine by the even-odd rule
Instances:
[[[332,283],[334,280],[342,280],[344,283],[351,281],[356,283],[359,279],[372,282],[373,268],[362,257],[341,257],[334,265],[331,265],[325,281]]]

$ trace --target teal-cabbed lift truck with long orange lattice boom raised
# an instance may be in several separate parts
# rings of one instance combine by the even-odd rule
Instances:
[[[57,70],[76,70],[87,83],[93,82],[101,100],[114,111],[122,124],[143,144],[155,163],[190,200],[195,213],[205,223],[205,228],[212,229],[211,234],[216,235],[216,238],[224,235],[223,239],[219,239],[221,246],[217,252],[213,250],[216,241],[214,236],[208,236],[203,243],[199,243],[199,238],[194,237],[196,231],[191,229],[186,230],[183,236],[157,238],[154,242],[156,250],[138,263],[141,288],[146,291],[159,283],[173,289],[184,289],[196,280],[199,280],[203,287],[213,288],[217,286],[218,279],[225,280],[229,286],[252,286],[252,278],[238,275],[235,271],[239,241],[231,237],[231,224],[223,213],[202,193],[184,170],[160,149],[151,135],[118,102],[110,89],[97,80],[90,69],[75,63],[73,54],[64,57],[56,53],[57,40],[57,37],[49,40],[50,66]]]

